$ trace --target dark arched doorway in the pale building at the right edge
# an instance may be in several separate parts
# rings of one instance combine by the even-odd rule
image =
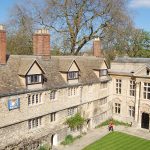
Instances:
[[[149,114],[142,113],[141,128],[149,129]]]

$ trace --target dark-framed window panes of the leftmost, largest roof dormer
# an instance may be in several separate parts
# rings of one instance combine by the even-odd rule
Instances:
[[[27,85],[42,83],[42,75],[41,74],[27,75],[26,81]]]

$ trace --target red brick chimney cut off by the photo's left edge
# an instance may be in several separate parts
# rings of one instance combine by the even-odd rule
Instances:
[[[0,65],[6,64],[6,30],[0,25]]]

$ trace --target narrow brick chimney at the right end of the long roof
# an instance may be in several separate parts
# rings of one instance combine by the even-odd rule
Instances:
[[[101,42],[99,38],[95,38],[93,41],[93,56],[96,56],[96,57],[102,56]]]

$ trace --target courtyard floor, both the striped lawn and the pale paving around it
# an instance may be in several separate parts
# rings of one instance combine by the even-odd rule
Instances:
[[[59,145],[57,150],[150,150],[149,130],[116,126],[114,132],[107,127],[89,130],[72,144]]]

